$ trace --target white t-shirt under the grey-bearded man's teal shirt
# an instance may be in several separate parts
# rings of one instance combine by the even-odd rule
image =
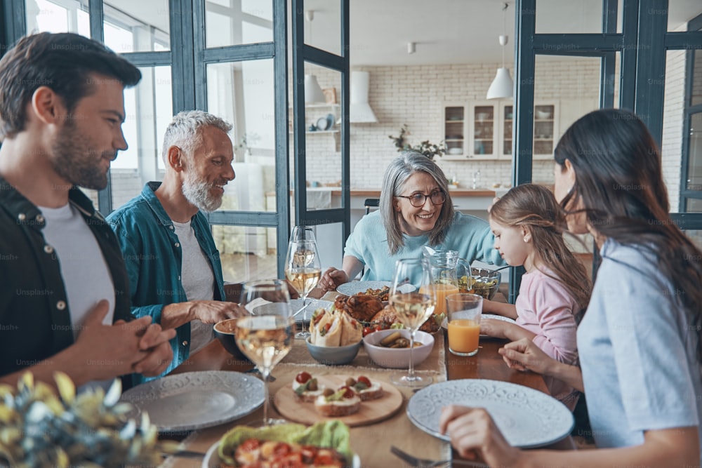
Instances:
[[[183,284],[187,300],[213,300],[215,276],[212,266],[197,242],[195,232],[188,222],[175,222],[176,236],[183,252],[180,266],[180,283]],[[214,339],[213,325],[195,319],[190,322],[190,355]]]

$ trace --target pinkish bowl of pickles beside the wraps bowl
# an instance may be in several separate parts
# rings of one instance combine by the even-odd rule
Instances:
[[[363,339],[366,352],[373,362],[381,367],[402,369],[409,367],[409,330],[380,330]],[[412,361],[414,365],[422,363],[434,348],[431,333],[418,331],[414,336]]]

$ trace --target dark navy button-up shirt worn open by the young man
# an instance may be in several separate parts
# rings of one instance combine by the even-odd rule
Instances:
[[[76,187],[72,204],[102,251],[114,285],[114,321],[131,320],[128,279],[114,232]],[[46,361],[74,344],[58,256],[41,233],[44,215],[0,177],[0,375]],[[90,267],[90,265],[86,265]]]

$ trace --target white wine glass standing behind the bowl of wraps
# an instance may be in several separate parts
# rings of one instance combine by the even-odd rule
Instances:
[[[317,241],[314,239],[312,228],[296,226],[288,243],[288,254],[285,258],[285,277],[290,281],[303,300],[303,307],[294,315],[307,308],[307,295],[319,283],[322,276],[322,263],[319,261]],[[305,330],[303,312],[303,329],[295,335],[296,338],[306,338],[310,332]]]

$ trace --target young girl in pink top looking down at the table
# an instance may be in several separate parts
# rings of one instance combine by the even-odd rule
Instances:
[[[490,209],[495,248],[509,265],[524,265],[514,305],[486,300],[483,312],[516,319],[481,321],[481,332],[515,341],[532,340],[563,363],[578,363],[576,329],[588,307],[590,279],[563,240],[565,220],[551,192],[540,185],[512,188]],[[544,377],[553,396],[571,410],[578,392],[560,380]]]

